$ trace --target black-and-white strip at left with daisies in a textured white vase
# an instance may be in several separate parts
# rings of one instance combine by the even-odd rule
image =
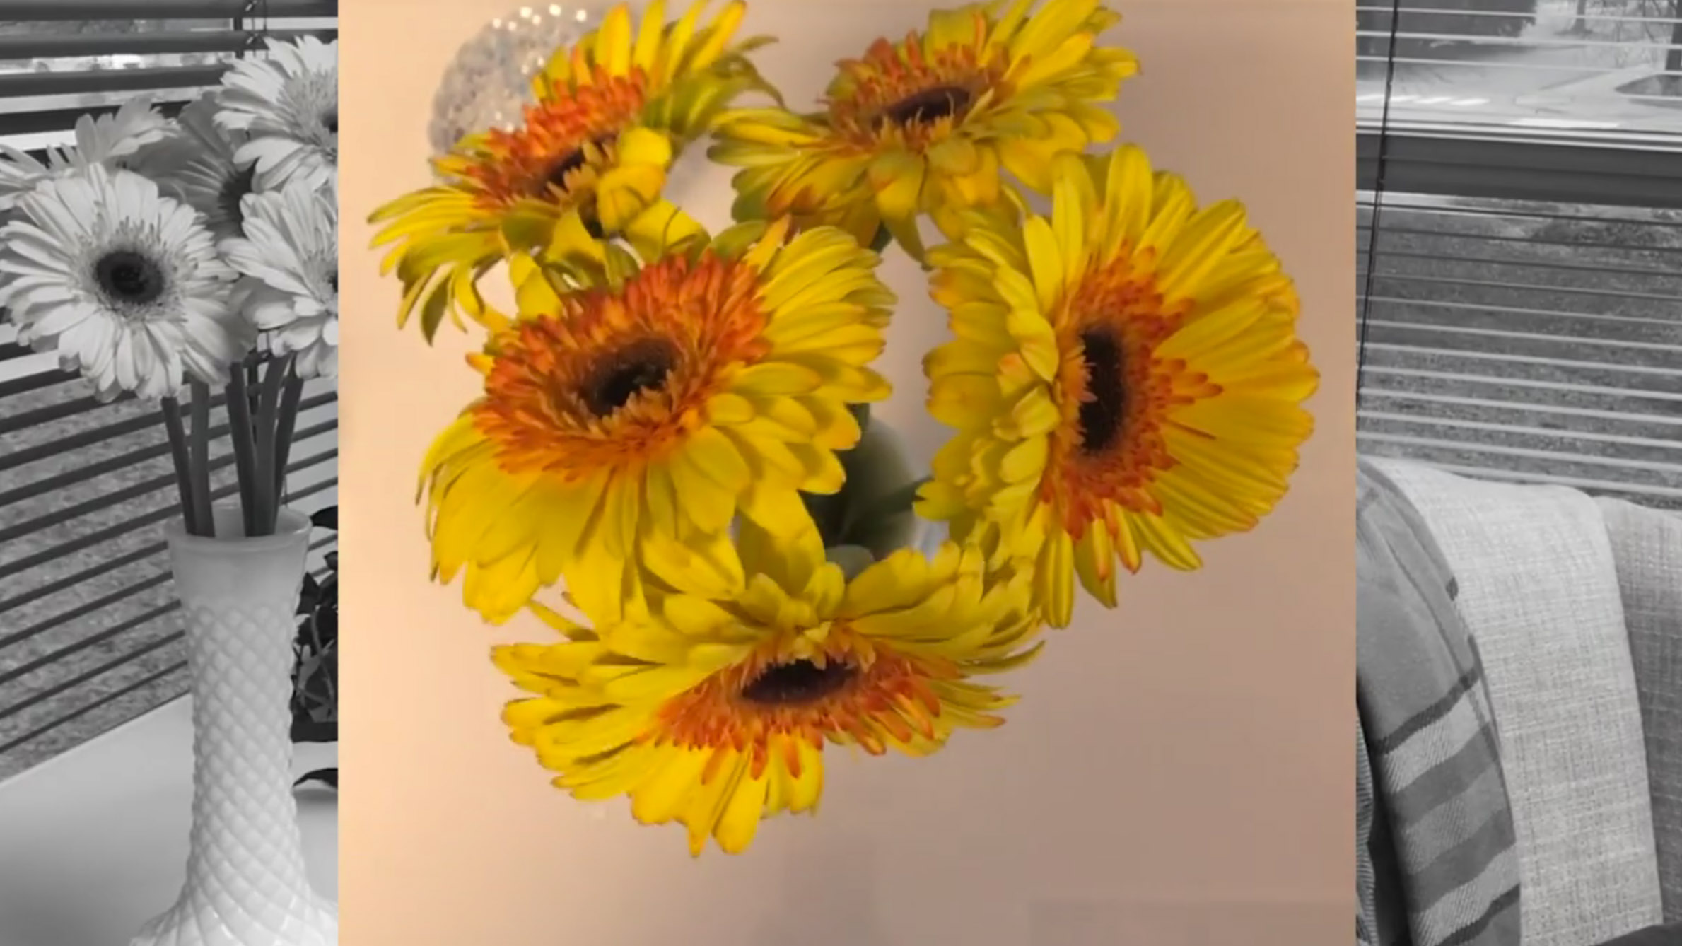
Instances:
[[[338,943],[336,0],[0,0],[0,943]]]

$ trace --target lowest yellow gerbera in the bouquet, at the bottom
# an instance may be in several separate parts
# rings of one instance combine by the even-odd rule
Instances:
[[[1001,724],[1014,699],[972,678],[1038,651],[1026,574],[989,582],[979,552],[945,544],[848,581],[806,525],[663,540],[646,608],[574,594],[594,628],[535,606],[569,640],[495,650],[535,694],[503,714],[515,742],[574,798],[626,795],[637,821],[683,823],[700,855],[708,837],[740,853],[762,818],[816,811],[826,742],[925,756]]]

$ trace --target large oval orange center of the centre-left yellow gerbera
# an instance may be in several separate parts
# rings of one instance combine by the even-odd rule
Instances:
[[[575,480],[668,456],[730,374],[767,352],[757,276],[710,251],[673,256],[503,332],[473,406],[503,468]]]

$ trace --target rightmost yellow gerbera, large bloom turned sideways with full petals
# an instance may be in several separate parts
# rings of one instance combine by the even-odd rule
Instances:
[[[1191,540],[1255,527],[1285,495],[1319,384],[1297,293],[1238,202],[1199,209],[1144,151],[1058,158],[1050,219],[935,249],[955,338],[930,352],[930,412],[959,433],[918,512],[1038,555],[1070,621],[1073,576],[1115,604],[1120,557],[1176,569]]]

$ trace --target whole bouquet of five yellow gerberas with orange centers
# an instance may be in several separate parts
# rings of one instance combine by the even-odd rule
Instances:
[[[693,853],[816,811],[826,746],[997,725],[989,680],[1078,589],[1113,608],[1145,552],[1196,569],[1273,508],[1317,385],[1243,207],[1112,145],[1137,64],[1097,0],[937,10],[809,111],[745,13],[614,7],[521,123],[373,214],[399,327],[483,337],[420,485],[434,577],[553,631],[495,648],[526,692],[505,722],[557,788]],[[738,168],[722,229],[666,187],[703,143]],[[870,411],[920,380],[875,367],[895,252],[950,328],[927,476]]]

